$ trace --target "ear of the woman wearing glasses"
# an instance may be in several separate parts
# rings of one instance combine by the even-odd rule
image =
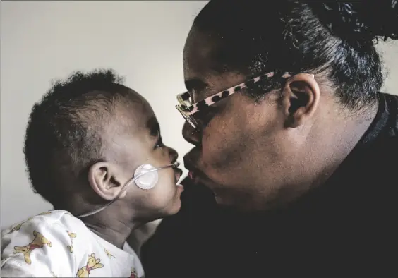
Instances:
[[[314,75],[300,73],[289,78],[282,93],[286,126],[296,128],[308,121],[318,109],[319,101],[320,88]]]

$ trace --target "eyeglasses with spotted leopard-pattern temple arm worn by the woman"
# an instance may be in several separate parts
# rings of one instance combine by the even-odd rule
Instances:
[[[224,90],[222,92],[218,92],[215,95],[211,95],[210,97],[206,97],[205,99],[201,100],[200,102],[196,102],[192,104],[191,102],[191,95],[189,95],[189,92],[183,92],[182,94],[177,95],[177,100],[179,101],[179,105],[176,105],[176,109],[179,110],[181,115],[183,116],[188,123],[191,124],[193,128],[198,127],[198,121],[193,117],[193,114],[197,113],[198,111],[202,111],[203,109],[206,109],[206,107],[210,107],[210,105],[215,104],[219,102],[222,99],[225,99],[226,97],[229,97],[230,95],[233,95],[235,92],[240,92],[246,87],[252,87],[253,84],[258,83],[258,82],[265,82],[266,80],[270,80],[270,78],[275,76],[275,72],[270,72],[270,73],[265,73],[263,75],[260,75],[256,78],[253,78],[251,80],[245,81],[239,85],[235,85],[234,87],[230,87],[227,90]],[[290,73],[283,73],[281,78],[289,78],[291,77]]]

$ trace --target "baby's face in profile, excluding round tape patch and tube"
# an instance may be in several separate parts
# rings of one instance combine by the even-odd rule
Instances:
[[[125,123],[124,131],[114,133],[108,140],[113,160],[120,163],[123,176],[131,179],[143,164],[157,168],[176,162],[178,154],[162,142],[159,123],[146,100],[131,104],[128,111],[131,113],[120,119]],[[135,217],[148,221],[175,214],[181,207],[183,187],[176,185],[181,173],[181,169],[171,167],[157,171],[158,181],[151,189],[131,183],[122,201],[133,207]]]

